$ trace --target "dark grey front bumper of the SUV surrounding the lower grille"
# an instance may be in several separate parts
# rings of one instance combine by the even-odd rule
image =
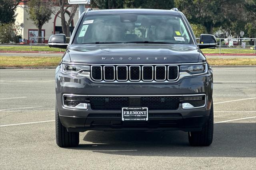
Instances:
[[[93,83],[86,77],[64,75],[56,70],[56,101],[60,121],[69,131],[86,130],[184,130],[199,131],[208,120],[212,103],[212,71],[205,75],[184,77],[175,83]],[[201,108],[149,110],[148,121],[123,122],[120,111],[68,109],[63,94],[76,95],[206,95]]]

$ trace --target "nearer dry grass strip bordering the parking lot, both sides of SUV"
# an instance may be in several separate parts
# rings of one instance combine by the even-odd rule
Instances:
[[[0,67],[25,66],[56,66],[61,57],[4,57],[0,56]],[[209,58],[210,65],[256,65],[256,59],[251,58]]]

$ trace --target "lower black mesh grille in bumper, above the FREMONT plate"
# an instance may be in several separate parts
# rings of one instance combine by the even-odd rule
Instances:
[[[179,107],[178,96],[142,96],[140,107],[148,107],[149,110],[176,110]],[[90,97],[90,105],[93,110],[122,110],[122,107],[130,107],[129,97]],[[136,106],[139,107],[139,106]]]

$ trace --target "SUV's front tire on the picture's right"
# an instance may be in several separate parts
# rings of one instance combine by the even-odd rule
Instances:
[[[188,132],[188,141],[191,146],[210,146],[213,138],[213,103],[207,123],[199,132]]]

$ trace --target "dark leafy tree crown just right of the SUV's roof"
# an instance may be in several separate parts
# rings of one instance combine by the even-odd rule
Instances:
[[[202,24],[208,34],[214,27],[222,26],[234,18],[240,0],[176,0],[176,6],[193,24]],[[237,14],[239,14],[237,12]]]

